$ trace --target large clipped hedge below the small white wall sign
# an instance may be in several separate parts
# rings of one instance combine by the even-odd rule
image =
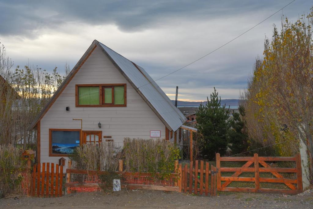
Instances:
[[[123,152],[126,171],[148,172],[161,179],[170,177],[179,159],[179,149],[164,139],[124,138]]]

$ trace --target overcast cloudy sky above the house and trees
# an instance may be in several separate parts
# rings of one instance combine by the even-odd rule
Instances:
[[[291,0],[263,1],[1,1],[0,41],[16,65],[52,71],[74,67],[94,39],[158,79],[208,54]],[[157,81],[174,99],[200,101],[217,88],[237,99],[246,88],[265,35],[282,14],[296,20],[311,0],[296,0],[253,30],[202,60]]]

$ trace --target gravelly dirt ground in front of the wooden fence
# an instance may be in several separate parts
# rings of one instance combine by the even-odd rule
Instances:
[[[59,198],[21,197],[0,200],[0,208],[313,208],[313,190],[300,195],[222,192],[218,197],[177,192],[125,190],[76,193]]]

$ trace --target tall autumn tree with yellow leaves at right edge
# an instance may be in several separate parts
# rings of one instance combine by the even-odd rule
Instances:
[[[294,23],[283,18],[280,31],[274,26],[243,94],[250,138],[281,155],[299,152],[299,140],[313,154],[312,26],[313,7]]]

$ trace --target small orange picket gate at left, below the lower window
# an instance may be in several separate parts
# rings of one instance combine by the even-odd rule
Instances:
[[[60,197],[63,194],[63,166],[51,163],[36,164],[33,167],[31,196]]]

